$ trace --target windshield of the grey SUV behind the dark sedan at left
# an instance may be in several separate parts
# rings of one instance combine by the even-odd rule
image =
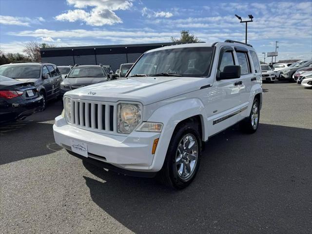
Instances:
[[[39,65],[8,65],[0,66],[0,75],[13,79],[39,78]]]

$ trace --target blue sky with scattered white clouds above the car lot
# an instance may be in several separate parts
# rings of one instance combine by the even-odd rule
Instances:
[[[25,42],[57,46],[170,42],[188,30],[201,41],[245,40],[263,60],[312,58],[312,1],[266,0],[0,0],[0,50]],[[268,58],[267,58],[268,59]]]

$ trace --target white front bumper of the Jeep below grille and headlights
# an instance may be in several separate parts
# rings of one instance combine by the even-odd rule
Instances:
[[[156,157],[152,149],[160,133],[134,131],[128,136],[97,133],[71,126],[61,116],[55,118],[53,132],[55,142],[67,150],[71,151],[71,140],[85,143],[87,158],[97,160],[99,166],[105,162],[129,171],[156,172],[151,168]]]

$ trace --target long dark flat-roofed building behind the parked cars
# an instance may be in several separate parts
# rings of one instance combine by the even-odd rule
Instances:
[[[116,71],[121,63],[135,62],[145,51],[175,43],[153,43],[132,45],[99,45],[58,47],[40,49],[42,62],[57,66],[66,65],[111,65]]]

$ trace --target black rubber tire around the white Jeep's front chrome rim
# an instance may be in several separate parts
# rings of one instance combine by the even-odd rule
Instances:
[[[181,141],[184,137],[189,136],[189,137],[194,137],[192,139],[196,140],[196,144],[197,144],[197,156],[196,156],[196,161],[195,161],[195,165],[189,168],[192,168],[192,170],[189,173],[189,177],[186,177],[185,179],[181,178],[181,175],[178,175],[178,169],[177,169],[177,165],[176,165],[176,157],[177,154],[179,152],[178,150],[178,146],[181,145]],[[169,147],[167,150],[167,154],[166,154],[166,158],[164,161],[164,164],[162,166],[162,169],[160,170],[158,176],[161,180],[162,183],[164,183],[165,185],[174,188],[174,189],[184,189],[186,188],[189,184],[191,184],[191,182],[194,180],[198,168],[199,168],[199,164],[200,164],[200,157],[201,157],[201,140],[200,140],[200,134],[198,131],[198,127],[192,123],[192,122],[186,122],[186,123],[182,123],[181,125],[176,127],[176,130],[170,140],[169,143]],[[188,144],[190,145],[190,143]],[[195,145],[195,144],[193,144]],[[186,149],[186,148],[185,148]],[[182,155],[182,154],[180,154]],[[182,160],[182,158],[181,158]],[[189,159],[186,159],[187,161],[189,161]],[[193,161],[189,161],[189,165],[191,165]],[[184,163],[186,163],[186,161],[184,161]],[[182,166],[184,169],[182,170],[184,173],[186,172],[187,174],[187,167],[184,166],[184,164],[180,164],[180,166]],[[182,174],[184,175],[184,173],[182,172]]]

